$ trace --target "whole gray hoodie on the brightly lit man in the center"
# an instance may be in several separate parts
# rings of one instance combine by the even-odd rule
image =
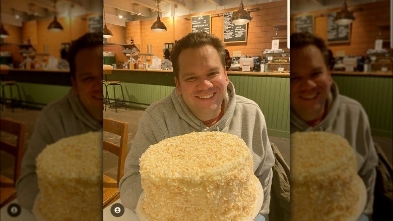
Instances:
[[[264,188],[261,214],[269,213],[272,167],[275,159],[270,146],[265,117],[252,100],[235,95],[229,82],[224,116],[212,127],[195,117],[176,88],[166,98],[152,103],[145,111],[124,165],[120,180],[120,199],[125,207],[135,211],[142,193],[139,158],[161,140],[191,132],[221,131],[237,135],[249,147],[253,157],[253,171]]]

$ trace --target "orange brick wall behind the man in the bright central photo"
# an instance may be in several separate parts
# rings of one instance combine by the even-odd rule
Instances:
[[[278,1],[257,5],[249,5],[246,9],[259,8],[259,11],[253,11],[250,15],[253,16],[251,22],[248,23],[247,42],[239,43],[225,43],[226,48],[232,56],[233,51],[241,50],[242,54],[250,56],[261,55],[260,51],[264,51],[266,48],[272,47],[272,38],[274,36],[286,36],[286,28],[279,30],[276,35],[276,29],[273,27],[278,24],[287,23],[287,1]],[[125,39],[129,40],[131,37],[134,38],[135,44],[140,48],[142,52],[147,52],[146,45],[152,44],[153,53],[159,58],[163,58],[162,49],[164,43],[174,42],[180,39],[186,34],[191,32],[191,21],[185,20],[191,16],[197,15],[208,15],[214,16],[218,13],[236,11],[238,8],[230,8],[225,10],[216,10],[205,13],[195,13],[186,16],[166,17],[161,18],[161,21],[167,27],[167,31],[156,33],[150,30],[150,27],[156,21],[131,21],[125,24]],[[212,17],[211,21],[211,33],[224,40],[224,21],[223,16]],[[112,30],[112,29],[111,29]],[[112,31],[113,32],[113,31]],[[286,48],[286,42],[280,44],[280,48],[288,50]],[[121,47],[120,47],[121,49]],[[115,51],[118,50],[117,46],[105,46],[104,50]],[[115,51],[116,52],[116,51]],[[150,52],[150,51],[149,51]],[[122,57],[125,57],[121,54]],[[117,58],[116,61],[124,61],[125,59]]]

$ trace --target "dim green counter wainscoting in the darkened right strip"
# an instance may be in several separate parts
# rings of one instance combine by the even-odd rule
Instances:
[[[341,94],[359,101],[373,136],[393,136],[393,77],[332,75]]]

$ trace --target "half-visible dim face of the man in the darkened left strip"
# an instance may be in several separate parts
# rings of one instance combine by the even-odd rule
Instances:
[[[102,122],[102,47],[85,48],[75,57],[73,90],[89,114]]]

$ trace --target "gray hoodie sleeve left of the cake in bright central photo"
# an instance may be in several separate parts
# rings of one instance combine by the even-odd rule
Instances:
[[[156,121],[148,111],[145,111],[131,149],[125,159],[124,176],[119,182],[120,200],[125,207],[133,211],[136,210],[138,199],[143,191],[141,174],[139,173],[139,159],[150,145],[158,143],[156,137],[161,137],[161,133],[159,130],[155,130],[157,128]]]

